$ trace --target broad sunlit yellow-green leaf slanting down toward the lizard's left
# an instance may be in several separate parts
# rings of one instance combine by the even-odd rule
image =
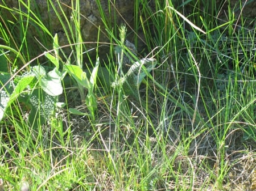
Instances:
[[[86,76],[86,73],[82,71],[79,66],[76,65],[64,65],[65,70],[79,83],[82,87],[91,88],[91,84]]]

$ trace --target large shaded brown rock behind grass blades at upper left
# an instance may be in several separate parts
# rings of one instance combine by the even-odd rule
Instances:
[[[24,3],[27,3],[28,1],[23,1]],[[50,3],[52,5],[50,5]],[[59,44],[60,45],[68,45],[75,43],[71,39],[71,42],[68,41],[67,34],[64,31],[64,28],[68,29],[68,36],[71,37],[71,33],[75,35],[75,31],[71,32],[71,30],[75,29],[75,24],[72,22],[73,15],[72,15],[72,4],[73,7],[75,7],[75,2],[72,0],[62,0],[62,1],[44,1],[44,0],[35,0],[30,1],[30,16],[33,19],[36,19],[35,16],[31,14],[31,12],[36,13],[37,17],[40,18],[40,22],[44,24],[44,26],[49,30],[52,36],[55,35],[55,33],[58,34],[59,37]],[[108,23],[108,26],[110,26],[110,29],[113,27],[121,26],[121,23],[125,24],[127,23],[130,26],[133,26],[133,16],[134,16],[134,0],[131,1],[125,1],[125,0],[115,0],[112,1],[114,3],[109,5],[109,1],[99,1],[101,3],[102,12],[106,15],[106,18],[110,19],[112,22]],[[10,9],[19,9],[19,4],[22,6],[22,11],[24,14],[28,13],[28,9],[26,6],[22,5],[22,3],[19,3],[19,1],[16,0],[6,0],[5,5],[9,7]],[[53,7],[59,12],[59,17],[55,13],[55,10]],[[74,8],[75,9],[75,8]],[[13,12],[14,14],[10,14],[10,12],[7,12],[7,10],[3,10],[5,15],[7,16],[8,20],[11,22],[14,22],[15,24],[18,24],[20,22],[18,13]],[[64,14],[62,13],[64,12]],[[98,9],[98,5],[96,0],[84,0],[80,1],[80,28],[82,33],[82,39],[84,42],[88,42],[85,44],[86,49],[90,50],[92,48],[97,47],[97,39],[98,39],[98,27],[100,26],[101,33],[100,33],[100,42],[102,43],[109,43],[109,37],[108,33],[105,30],[104,23],[102,22],[102,16],[100,14],[100,11]],[[65,20],[67,18],[67,20]],[[26,20],[27,17],[23,16],[23,19]],[[63,21],[62,26],[60,20]],[[72,23],[72,27],[69,28],[68,22]],[[24,23],[26,25],[26,22]],[[39,45],[38,42],[35,41],[36,39],[40,39],[40,36],[48,36],[46,33],[42,30],[38,30],[38,28],[34,27],[36,24],[35,22],[30,19],[29,32],[27,32],[27,36],[30,37],[32,47],[34,50],[40,50],[42,49],[42,46]],[[19,33],[19,32],[17,32]],[[119,31],[117,30],[117,34],[119,34]],[[117,36],[119,39],[119,36]],[[42,43],[42,42],[40,42]],[[47,39],[47,45],[48,49],[52,48],[52,39]],[[38,47],[38,48],[37,48]],[[71,52],[71,48],[65,48],[65,53],[69,55]],[[85,50],[84,50],[85,51]],[[96,53],[95,51],[92,51],[93,54]],[[109,45],[106,44],[105,48],[102,48],[102,50],[99,50],[99,54],[106,54],[106,52],[109,52]],[[35,56],[42,53],[42,50],[38,53],[36,53]],[[85,54],[86,55],[86,54]]]

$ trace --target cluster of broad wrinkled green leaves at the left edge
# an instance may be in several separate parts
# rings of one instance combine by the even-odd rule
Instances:
[[[48,58],[52,57],[48,55]],[[7,61],[3,57],[1,59],[3,65],[6,65]],[[55,63],[56,68],[48,73],[42,66],[34,66],[30,73],[16,76],[14,80],[9,73],[1,73],[0,120],[2,120],[11,104],[18,99],[31,108],[28,118],[30,124],[37,126],[46,123],[55,110],[57,96],[63,92],[61,85],[62,74],[57,70],[59,68],[58,62],[53,61],[53,63]],[[35,83],[35,77],[38,83]],[[38,124],[38,121],[35,122],[34,120],[38,120],[40,117],[40,124]]]

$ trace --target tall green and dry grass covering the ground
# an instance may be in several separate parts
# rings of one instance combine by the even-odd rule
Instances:
[[[51,53],[53,31],[37,9],[19,3],[18,9],[3,3],[1,11],[8,14],[0,17],[0,58],[8,66],[1,71],[10,73],[14,83],[32,65],[55,67],[44,52]],[[56,108],[47,123],[39,117],[35,128],[28,121],[31,106],[20,97],[41,88],[40,80],[19,93],[1,121],[0,178],[5,190],[19,190],[23,184],[30,190],[254,189],[256,31],[246,28],[241,3],[228,8],[225,22],[216,18],[222,8],[215,1],[179,3],[155,1],[152,8],[135,1],[134,26],[126,25],[127,37],[142,47],[137,57],[130,50],[126,54],[159,62],[140,87],[140,100],[147,103],[143,107],[131,97],[118,97],[120,91],[104,92],[97,86],[95,116],[79,116],[69,109],[89,113],[88,105],[81,105],[75,83],[64,83],[59,101],[66,106]],[[112,1],[108,13],[100,1],[97,5],[104,27],[98,28],[93,57],[86,49],[92,43],[82,39],[79,1],[69,7],[73,20],[57,1],[53,12],[69,42],[58,48],[60,72],[68,62],[85,69],[85,56],[94,66],[102,45],[110,50],[101,66],[116,69],[113,49],[123,44],[121,25],[111,23],[108,14],[115,20],[119,12]],[[241,12],[239,25],[235,10]],[[28,23],[39,31],[38,39],[30,36]],[[101,35],[110,43],[100,41]]]

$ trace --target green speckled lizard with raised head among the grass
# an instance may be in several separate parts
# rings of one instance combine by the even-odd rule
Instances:
[[[125,46],[130,50],[130,55],[133,54],[134,58],[136,58],[135,56],[137,56],[137,54],[135,53],[135,46],[127,40],[125,42]],[[124,52],[125,50],[123,50],[120,46],[115,46],[115,53],[117,55],[120,54],[122,51]],[[115,89],[117,87],[121,87],[123,93],[126,96],[133,96],[135,99],[138,99],[138,88],[140,84],[142,83],[144,77],[146,77],[146,75],[150,73],[152,69],[154,69],[157,62],[154,58],[143,58],[142,60],[135,62],[134,58],[128,57],[126,56],[126,54],[123,54],[122,61],[124,64],[122,65],[122,63],[119,63],[119,65],[122,65],[121,72],[117,71],[115,73],[108,67],[98,67],[97,84],[98,87],[102,87],[104,89],[105,93],[108,93],[111,90],[111,88]],[[118,55],[118,58],[119,56],[120,55]],[[93,68],[84,69],[88,78],[90,78],[92,70]],[[122,73],[123,71],[125,72],[125,74]],[[70,83],[68,82],[68,80],[69,79],[67,79],[67,86]]]

